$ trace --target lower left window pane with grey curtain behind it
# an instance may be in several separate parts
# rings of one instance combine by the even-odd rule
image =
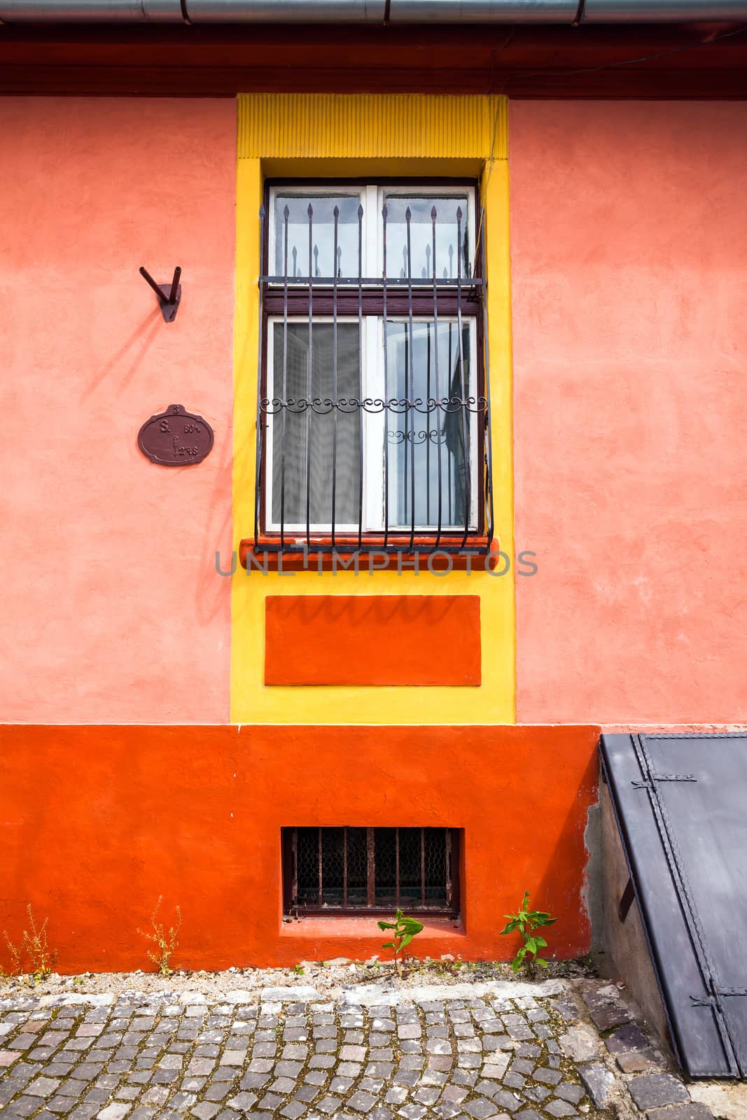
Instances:
[[[272,388],[270,398],[304,401],[309,398],[309,326],[288,324],[288,364],[283,391],[283,325],[272,330]],[[337,400],[361,398],[358,325],[337,325]],[[298,403],[270,416],[272,439],[272,521],[286,526],[306,525],[306,478],[309,473],[310,523],[329,525],[333,516],[333,446],[337,416],[335,524],[357,525],[360,487],[360,411],[325,405],[334,399],[332,323],[315,323],[311,343],[311,393],[316,410]],[[270,405],[273,409],[273,405]],[[284,431],[283,431],[284,413]],[[308,456],[307,456],[308,450]],[[284,451],[284,456],[283,456]],[[284,463],[284,470],[283,470]],[[284,483],[283,483],[284,478]]]

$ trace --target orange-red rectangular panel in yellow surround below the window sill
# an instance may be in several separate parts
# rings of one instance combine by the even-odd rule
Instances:
[[[264,683],[479,684],[479,596],[270,595]]]

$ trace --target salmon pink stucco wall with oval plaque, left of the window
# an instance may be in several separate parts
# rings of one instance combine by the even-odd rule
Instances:
[[[0,105],[0,718],[228,719],[235,103]],[[138,274],[183,272],[166,325]],[[137,447],[170,404],[198,466]]]

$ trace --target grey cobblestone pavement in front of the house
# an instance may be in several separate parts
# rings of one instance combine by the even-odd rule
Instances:
[[[0,993],[0,1116],[709,1120],[614,986]]]

